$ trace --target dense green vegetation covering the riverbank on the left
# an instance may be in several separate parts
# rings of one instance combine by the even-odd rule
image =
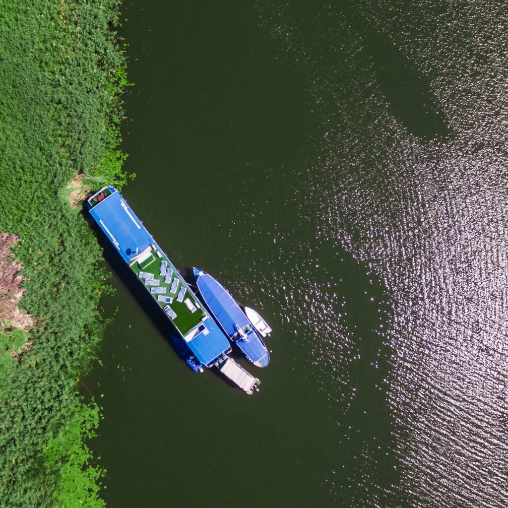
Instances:
[[[0,8],[0,230],[20,237],[24,333],[0,323],[0,504],[103,506],[84,439],[100,415],[78,379],[104,321],[101,248],[67,185],[121,186],[126,85],[114,0],[11,0]],[[27,339],[31,350],[13,358]]]

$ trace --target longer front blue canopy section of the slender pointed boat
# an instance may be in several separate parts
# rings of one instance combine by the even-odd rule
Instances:
[[[230,337],[237,332],[235,325],[243,328],[250,323],[233,297],[212,276],[203,273],[196,283],[208,308]]]

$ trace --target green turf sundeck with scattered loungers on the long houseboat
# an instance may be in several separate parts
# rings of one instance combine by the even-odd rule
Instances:
[[[181,335],[187,335],[193,328],[204,321],[203,318],[206,318],[206,313],[201,304],[194,293],[190,291],[188,285],[178,273],[178,270],[172,265],[164,252],[158,248],[157,244],[151,245],[138,259],[141,261],[135,260],[130,264],[131,270],[137,275],[142,284],[144,284],[146,278],[140,276],[141,272],[153,275],[151,284],[144,284],[145,289],[163,310],[169,306],[176,314],[176,317],[172,318],[170,313],[166,312]],[[172,270],[171,278],[169,280],[166,279],[168,282],[165,282],[165,275],[161,275],[161,264],[163,261],[167,263],[167,270]],[[178,283],[175,282],[175,279]],[[172,287],[174,289],[173,292],[171,292]],[[151,290],[155,288],[160,288],[160,292],[152,293]],[[182,288],[185,290],[184,293]],[[179,294],[180,298],[178,298]],[[172,299],[172,302],[160,301],[161,299],[157,299],[158,297],[169,297]],[[191,308],[194,306],[196,310],[192,312],[188,306],[191,306]]]

